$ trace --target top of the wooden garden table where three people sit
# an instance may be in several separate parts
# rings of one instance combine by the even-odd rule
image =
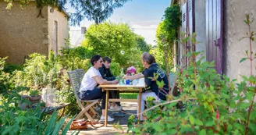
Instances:
[[[98,87],[130,87],[130,88],[144,88],[145,87],[145,83],[144,83],[144,78],[140,79],[139,82],[137,84],[123,84],[120,85],[119,83],[116,84],[101,84]]]

